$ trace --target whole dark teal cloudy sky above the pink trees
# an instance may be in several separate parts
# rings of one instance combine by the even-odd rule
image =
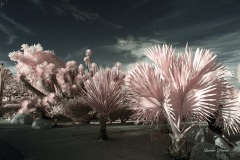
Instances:
[[[85,50],[100,66],[126,71],[147,61],[144,49],[170,44],[176,50],[206,48],[237,76],[240,63],[239,0],[3,0],[0,61],[12,72],[8,54],[40,43],[63,61],[84,63]],[[231,83],[240,88],[236,78]]]

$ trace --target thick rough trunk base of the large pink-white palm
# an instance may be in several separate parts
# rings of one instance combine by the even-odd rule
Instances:
[[[174,160],[185,160],[190,156],[190,152],[188,150],[186,144],[186,138],[182,136],[174,136],[170,135],[170,144],[169,144],[169,156]]]

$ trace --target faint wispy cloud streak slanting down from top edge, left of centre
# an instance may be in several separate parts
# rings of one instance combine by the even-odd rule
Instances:
[[[44,12],[46,12],[47,7],[51,7],[51,10],[55,14],[63,16],[70,15],[77,21],[88,21],[90,23],[101,23],[106,27],[112,29],[121,29],[122,26],[113,24],[108,20],[102,18],[98,13],[90,12],[86,10],[79,9],[78,7],[72,5],[68,0],[60,0],[57,2],[47,2],[43,0],[29,0],[37,6],[39,6]]]

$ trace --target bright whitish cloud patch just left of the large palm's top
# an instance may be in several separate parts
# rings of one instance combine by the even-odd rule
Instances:
[[[162,40],[149,38],[149,37],[134,37],[129,35],[127,37],[115,37],[116,43],[113,45],[100,46],[99,48],[106,55],[102,55],[104,59],[99,61],[104,61],[106,64],[113,65],[115,62],[119,61],[123,65],[123,70],[127,71],[129,67],[138,62],[149,62],[143,51],[154,45],[162,45],[165,43]],[[112,55],[114,53],[114,55]],[[110,56],[111,55],[111,56]],[[117,61],[116,61],[117,59]]]

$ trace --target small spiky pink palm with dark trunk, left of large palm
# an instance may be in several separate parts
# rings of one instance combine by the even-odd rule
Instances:
[[[100,134],[98,140],[108,139],[106,122],[108,115],[117,110],[124,97],[124,76],[116,79],[114,72],[107,68],[100,68],[92,78],[84,82],[86,95],[84,102],[100,114]]]

